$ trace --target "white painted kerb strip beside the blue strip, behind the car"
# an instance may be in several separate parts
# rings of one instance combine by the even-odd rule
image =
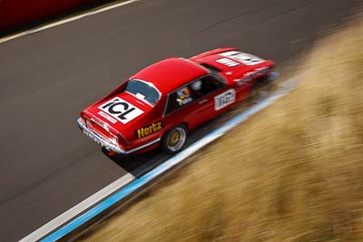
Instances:
[[[107,187],[99,190],[94,193],[91,197],[86,198],[82,202],[78,203],[73,208],[68,209],[63,214],[54,218],[50,222],[46,223],[43,227],[39,227],[33,233],[28,235],[27,237],[22,238],[19,242],[29,242],[29,241],[37,241],[41,237],[44,237],[49,232],[53,231],[55,228],[60,227],[65,222],[75,218],[83,211],[88,208],[91,208],[94,204],[103,200],[103,198],[107,198],[111,194],[113,194],[116,190],[123,188],[125,185],[129,184],[133,179],[135,179],[132,174],[127,173],[122,178],[116,179],[108,185]]]

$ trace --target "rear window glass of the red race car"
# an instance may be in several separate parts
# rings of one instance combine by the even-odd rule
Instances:
[[[130,92],[138,99],[150,102],[152,105],[156,104],[161,97],[159,90],[157,90],[152,83],[140,80],[131,80],[127,84],[125,92]]]

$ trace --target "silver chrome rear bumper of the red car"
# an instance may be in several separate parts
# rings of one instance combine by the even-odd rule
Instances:
[[[117,144],[111,143],[109,140],[104,139],[101,135],[99,135],[99,134],[93,132],[92,130],[88,129],[85,126],[83,119],[79,118],[77,120],[77,124],[78,124],[78,127],[81,129],[81,131],[83,131],[83,133],[85,135],[90,137],[91,140],[94,140],[96,143],[100,144],[104,149],[114,151],[117,154],[121,154],[121,155],[128,155],[128,154],[140,151],[140,150],[144,150],[144,149],[146,149],[146,148],[160,142],[160,140],[161,140],[161,139],[152,140],[151,142],[143,144],[142,146],[136,147],[134,149],[123,150]]]

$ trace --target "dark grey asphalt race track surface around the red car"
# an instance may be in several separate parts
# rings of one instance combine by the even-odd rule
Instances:
[[[79,111],[132,73],[221,46],[287,63],[360,2],[143,0],[0,44],[0,240],[165,159],[111,160],[77,128]]]

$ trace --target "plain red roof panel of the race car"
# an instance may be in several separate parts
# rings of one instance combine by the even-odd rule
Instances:
[[[198,77],[209,73],[198,63],[183,58],[169,58],[146,67],[132,76],[145,82],[151,82],[160,92],[167,94]]]

